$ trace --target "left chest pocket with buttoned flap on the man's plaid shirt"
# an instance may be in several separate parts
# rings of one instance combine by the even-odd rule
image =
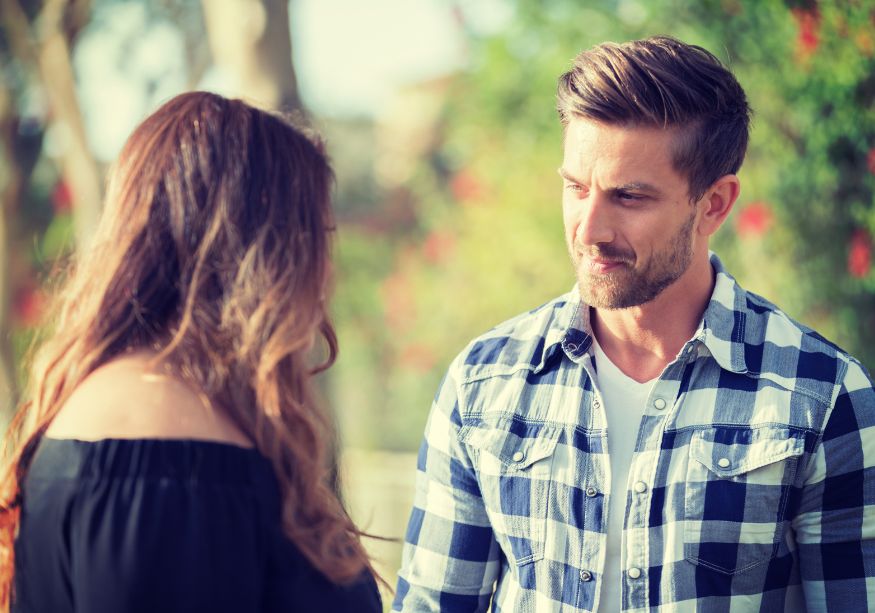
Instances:
[[[544,557],[551,469],[561,428],[512,418],[478,421],[459,433],[477,462],[496,540],[518,565]]]

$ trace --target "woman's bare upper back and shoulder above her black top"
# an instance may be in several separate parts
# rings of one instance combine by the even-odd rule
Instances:
[[[145,353],[116,358],[89,375],[49,425],[46,436],[86,441],[179,438],[251,441],[173,373],[152,367]]]

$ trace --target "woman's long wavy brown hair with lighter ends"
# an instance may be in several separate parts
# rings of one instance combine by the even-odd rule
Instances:
[[[21,483],[40,438],[85,377],[138,349],[157,352],[270,460],[284,531],[316,568],[337,583],[370,568],[328,482],[333,431],[311,389],[337,351],[325,304],[332,182],[315,137],[239,100],[183,94],[134,131],[7,433],[3,603]],[[328,359],[314,367],[317,333]]]

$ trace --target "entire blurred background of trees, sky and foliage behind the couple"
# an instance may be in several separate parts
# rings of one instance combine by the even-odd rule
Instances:
[[[875,0],[0,0],[0,409],[45,284],[87,240],[107,166],[161,102],[300,109],[337,172],[323,379],[346,498],[402,538],[453,355],[567,291],[556,79],[605,40],[671,34],[755,110],[714,249],[748,289],[875,366]],[[400,542],[370,544],[390,583]],[[391,598],[386,598],[386,604]]]

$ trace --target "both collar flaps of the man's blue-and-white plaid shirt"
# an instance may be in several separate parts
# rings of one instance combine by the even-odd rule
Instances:
[[[726,271],[720,258],[711,252],[710,260],[716,276],[714,290],[690,342],[698,343],[700,351],[710,353],[721,368],[746,372],[745,326],[747,318],[755,313],[747,308],[746,292]],[[544,351],[540,363],[535,367],[536,373],[546,368],[560,353],[577,362],[592,345],[589,305],[582,302],[576,284],[564,299],[565,304],[556,313],[544,337]]]

